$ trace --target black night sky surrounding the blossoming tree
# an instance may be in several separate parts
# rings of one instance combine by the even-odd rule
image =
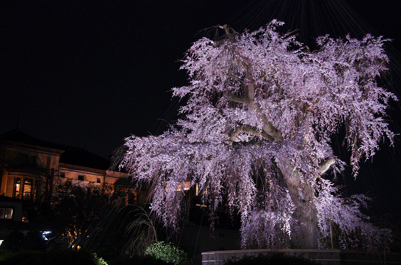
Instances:
[[[314,26],[316,32],[343,36],[370,29],[369,24],[394,39],[391,59],[401,61],[399,0],[327,0],[331,7],[319,4],[322,1],[307,0],[314,3],[307,7],[308,41]],[[193,41],[208,34],[203,29],[227,23],[241,32],[273,18],[289,22],[289,29],[300,28],[300,2],[2,1],[0,133],[18,124],[42,140],[86,147],[107,157],[124,137],[161,133],[176,119],[179,102],[171,100],[170,89],[186,82],[178,60]],[[343,31],[336,29],[341,26]],[[398,96],[400,85],[391,88]],[[401,133],[399,106],[391,102],[390,126],[396,133]],[[383,143],[373,162],[362,165],[356,182],[347,172],[340,176],[350,184],[350,192],[372,194],[380,215],[401,213],[400,139],[394,147]]]

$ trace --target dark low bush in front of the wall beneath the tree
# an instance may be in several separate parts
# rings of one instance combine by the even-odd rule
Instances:
[[[313,260],[303,256],[290,256],[283,253],[271,253],[269,255],[233,257],[226,260],[225,265],[316,265]]]

